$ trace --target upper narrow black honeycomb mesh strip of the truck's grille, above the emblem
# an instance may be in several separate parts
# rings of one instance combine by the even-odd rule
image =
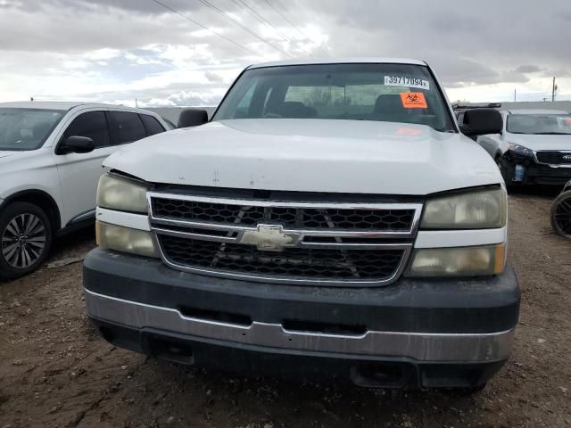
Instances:
[[[414,210],[264,208],[153,198],[153,215],[157,218],[244,226],[255,226],[260,222],[270,221],[281,223],[285,228],[297,229],[407,231],[412,225],[414,212]]]

